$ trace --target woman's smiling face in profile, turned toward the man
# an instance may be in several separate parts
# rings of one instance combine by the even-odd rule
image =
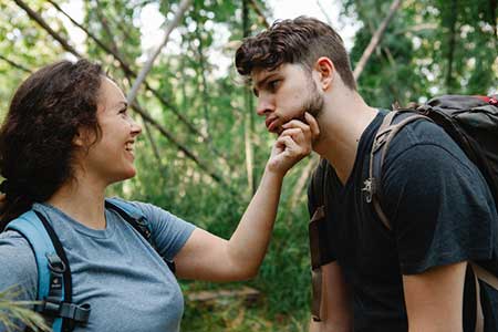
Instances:
[[[96,116],[102,136],[83,155],[81,162],[85,176],[90,175],[104,185],[135,176],[134,144],[142,127],[129,116],[123,92],[107,77],[102,77]],[[90,138],[89,135],[86,137]],[[93,139],[81,142],[84,145]]]

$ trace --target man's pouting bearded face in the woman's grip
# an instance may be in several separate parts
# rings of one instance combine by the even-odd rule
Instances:
[[[257,70],[251,74],[253,92],[258,97],[256,112],[266,116],[271,133],[280,134],[282,125],[291,120],[304,120],[304,112],[317,117],[323,107],[311,72],[298,64],[286,63],[273,71]]]

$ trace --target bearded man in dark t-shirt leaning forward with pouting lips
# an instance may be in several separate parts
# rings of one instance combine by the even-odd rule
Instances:
[[[417,121],[391,143],[381,180],[390,230],[362,190],[387,111],[359,94],[341,37],[311,18],[276,22],[243,41],[236,65],[253,83],[268,131],[281,133],[304,112],[319,123],[313,149],[324,185],[311,183],[309,208],[313,215],[326,199],[328,214],[322,320],[311,330],[474,331],[467,262],[498,272],[498,217],[483,176],[449,136]],[[498,293],[484,284],[480,294],[485,331],[498,331]]]

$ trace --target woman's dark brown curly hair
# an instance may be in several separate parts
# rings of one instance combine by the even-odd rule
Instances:
[[[7,200],[0,229],[72,179],[79,128],[101,135],[96,110],[103,75],[87,60],[60,61],[19,86],[0,128],[0,174],[6,178],[0,189]]]

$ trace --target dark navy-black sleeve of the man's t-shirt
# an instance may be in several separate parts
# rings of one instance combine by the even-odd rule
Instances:
[[[491,259],[495,204],[486,180],[465,157],[434,144],[414,145],[386,164],[383,184],[402,273]]]

